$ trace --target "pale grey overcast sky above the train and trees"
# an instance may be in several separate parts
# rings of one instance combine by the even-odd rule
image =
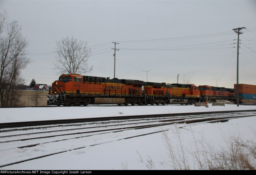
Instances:
[[[30,45],[22,71],[29,85],[57,80],[56,41],[88,42],[91,76],[233,88],[237,33],[241,30],[239,83],[256,84],[256,1],[0,1]],[[235,43],[235,44],[234,44]],[[144,70],[144,71],[143,71]],[[215,78],[215,79],[214,79]]]

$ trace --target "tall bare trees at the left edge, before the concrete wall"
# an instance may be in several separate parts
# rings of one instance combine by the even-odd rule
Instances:
[[[22,36],[17,21],[8,22],[7,13],[0,13],[0,100],[7,106],[13,99],[13,89],[23,80],[20,72],[29,63],[27,58],[28,41]]]

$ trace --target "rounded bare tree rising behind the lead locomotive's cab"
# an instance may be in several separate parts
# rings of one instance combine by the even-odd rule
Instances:
[[[88,66],[91,50],[87,42],[67,37],[57,41],[54,49],[58,54],[54,63],[58,73],[83,74],[92,70],[93,66]]]

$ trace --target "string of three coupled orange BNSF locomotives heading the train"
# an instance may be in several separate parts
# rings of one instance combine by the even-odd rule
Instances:
[[[47,105],[88,104],[193,104],[206,97],[211,101],[235,102],[235,89],[194,84],[166,84],[131,79],[62,74],[52,83]]]

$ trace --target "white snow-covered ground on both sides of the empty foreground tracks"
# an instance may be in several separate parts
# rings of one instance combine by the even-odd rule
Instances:
[[[26,108],[2,108],[0,109],[0,123],[35,121],[49,119],[68,119],[68,118],[91,118],[125,115],[144,115],[144,114],[165,114],[165,113],[185,113],[185,112],[205,112],[205,111],[231,111],[231,110],[255,110],[256,106],[236,105],[226,106],[205,106],[195,107],[193,105],[148,105],[148,106],[77,106],[77,107],[26,107]],[[182,144],[187,150],[193,149],[192,134],[196,138],[204,138],[207,143],[216,149],[226,146],[223,137],[240,134],[244,139],[256,139],[256,116],[231,119],[225,123],[194,123],[191,125],[179,124]],[[152,128],[155,130],[168,129],[168,137],[175,145],[177,134],[174,133],[174,126],[164,126],[163,128]],[[193,131],[193,132],[192,132]],[[133,131],[134,132],[134,131]],[[118,132],[115,133],[118,138]],[[160,162],[168,162],[170,159],[167,150],[163,145],[162,133],[154,133],[146,136],[135,137],[123,140],[105,140],[104,143],[95,146],[88,146],[78,150],[72,150],[40,159],[30,160],[19,164],[14,164],[0,168],[1,170],[119,170],[128,169],[148,169],[147,159],[154,162],[155,169],[171,169],[167,165],[163,166]],[[101,138],[102,139],[102,138]],[[0,138],[1,140],[1,138]],[[99,138],[94,140],[84,140],[84,143],[67,142],[62,149],[69,145],[88,143],[100,143]],[[57,148],[56,148],[57,149]],[[58,148],[61,149],[61,148]],[[44,144],[34,146],[34,153],[46,151]],[[27,156],[29,156],[29,154]],[[139,155],[140,154],[140,155]],[[0,155],[4,157],[6,155]],[[18,153],[17,153],[18,156]],[[140,159],[143,157],[143,162]],[[188,154],[190,169],[194,169],[192,156]],[[123,166],[122,166],[123,164]]]

